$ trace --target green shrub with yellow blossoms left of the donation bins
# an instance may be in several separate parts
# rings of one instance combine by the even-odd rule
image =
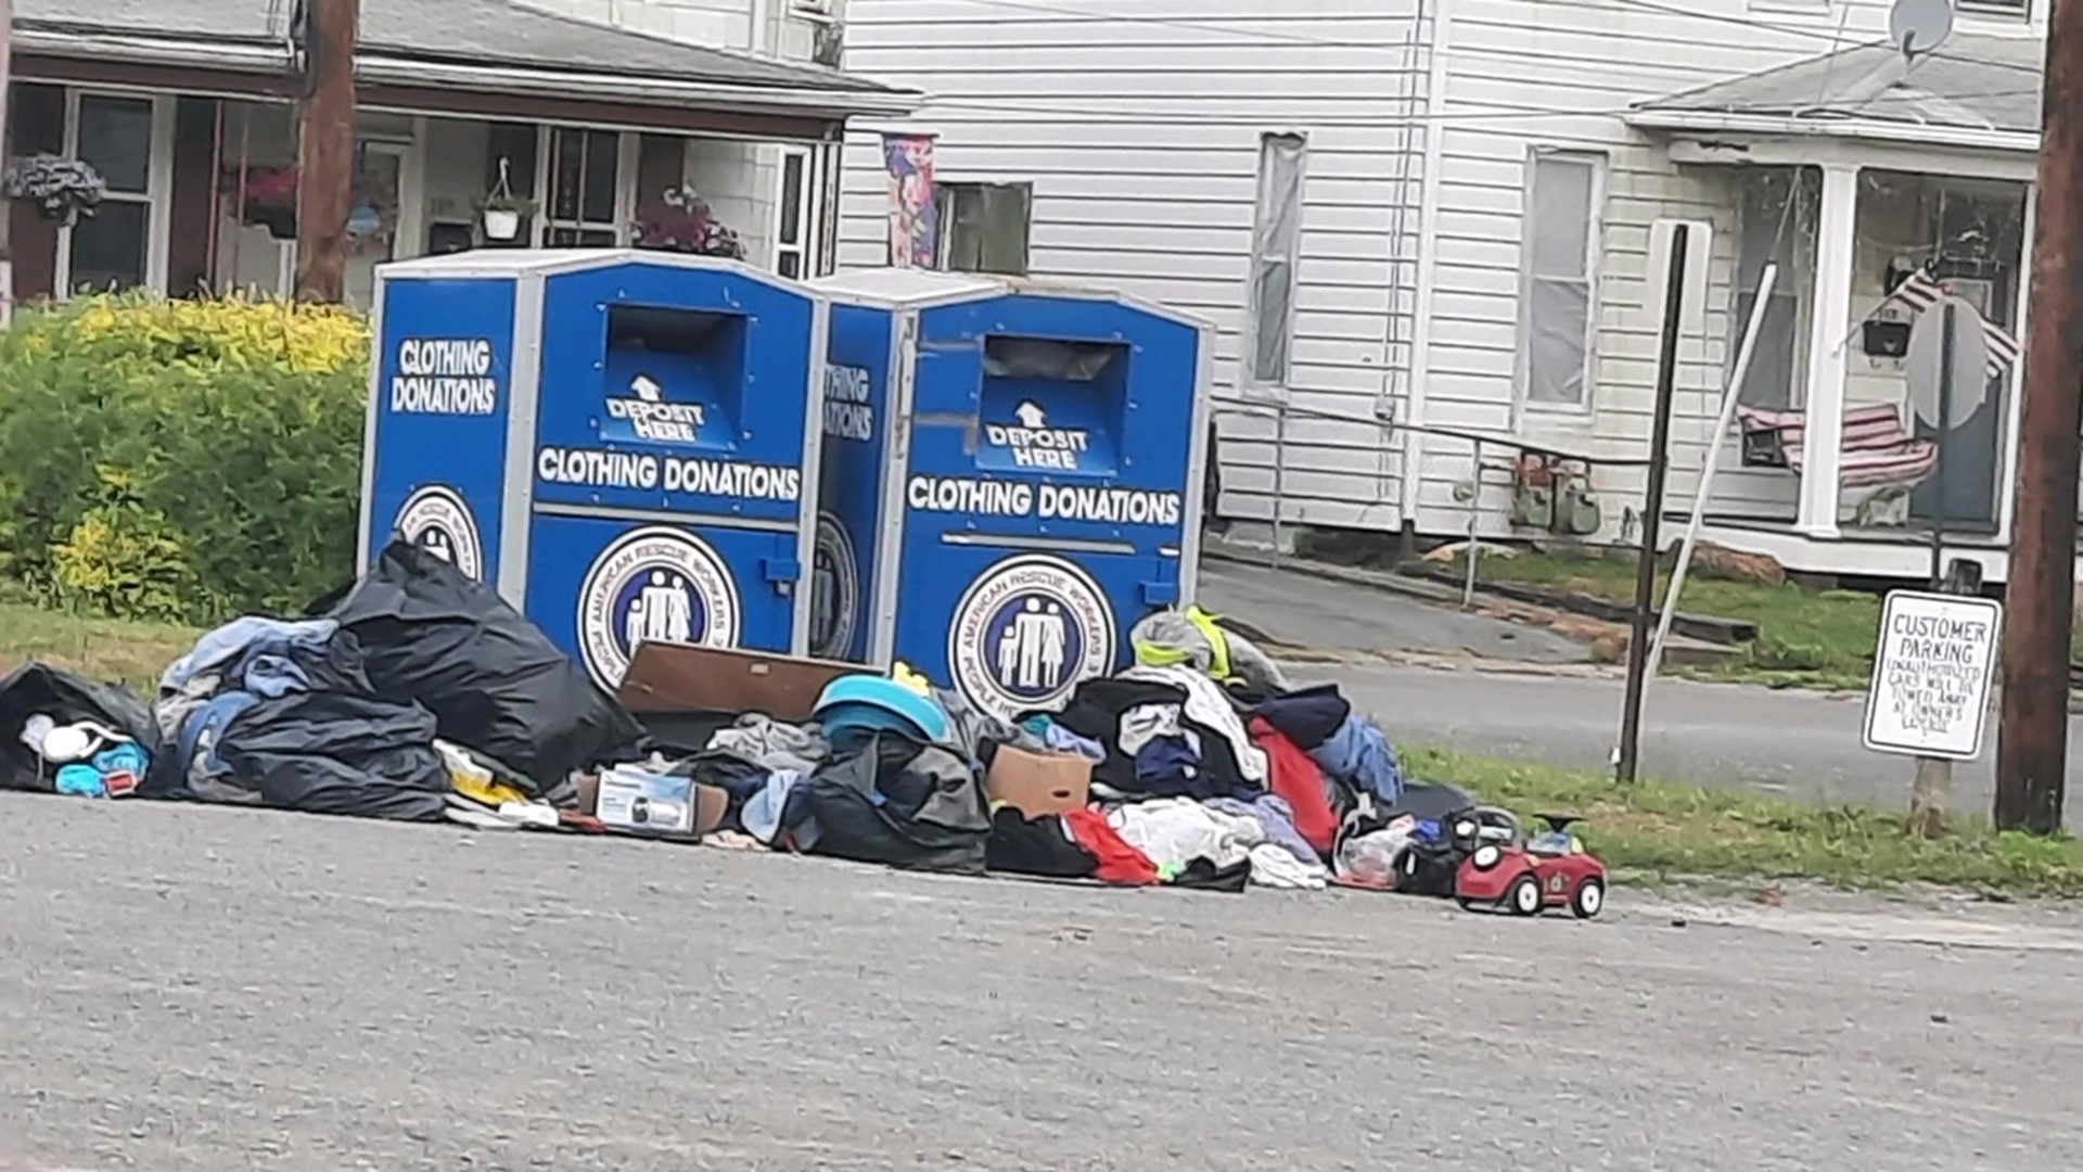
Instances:
[[[0,334],[0,573],[112,617],[292,611],[354,569],[369,334],[85,298]]]

